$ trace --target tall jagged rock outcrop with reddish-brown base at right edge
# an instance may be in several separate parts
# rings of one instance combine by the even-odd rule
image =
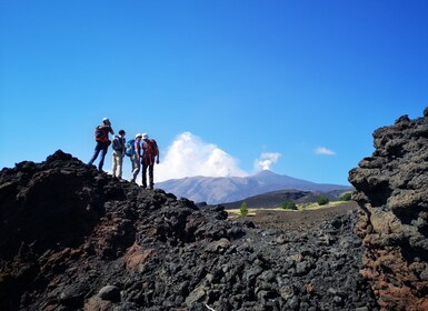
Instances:
[[[362,273],[385,310],[428,310],[428,108],[374,133],[375,152],[349,172],[364,211]]]

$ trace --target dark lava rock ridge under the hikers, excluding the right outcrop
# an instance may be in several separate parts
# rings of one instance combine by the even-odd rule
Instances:
[[[356,219],[255,229],[57,151],[0,172],[0,310],[378,310]]]

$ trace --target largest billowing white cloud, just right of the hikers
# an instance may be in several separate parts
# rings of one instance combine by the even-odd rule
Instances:
[[[161,154],[159,165],[155,168],[156,181],[185,177],[243,177],[248,173],[238,167],[230,154],[216,144],[206,143],[190,132],[177,137]]]

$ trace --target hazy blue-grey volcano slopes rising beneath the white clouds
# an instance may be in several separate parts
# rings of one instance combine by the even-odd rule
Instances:
[[[351,189],[349,185],[316,183],[277,174],[268,170],[246,178],[191,177],[167,180],[156,185],[179,198],[183,197],[195,202],[207,202],[209,204],[235,202],[252,195],[285,189],[321,192]]]

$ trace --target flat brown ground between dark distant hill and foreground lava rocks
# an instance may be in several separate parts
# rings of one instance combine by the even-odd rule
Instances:
[[[252,221],[257,228],[306,231],[318,227],[322,221],[332,219],[339,214],[346,214],[350,210],[358,209],[356,202],[345,202],[332,208],[321,208],[306,211],[271,211],[258,210],[256,215],[237,218],[237,221]]]

